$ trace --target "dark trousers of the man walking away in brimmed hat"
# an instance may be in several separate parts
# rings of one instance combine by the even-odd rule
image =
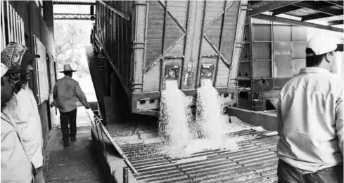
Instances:
[[[60,111],[60,125],[63,141],[69,142],[69,137],[75,137],[77,135],[77,109],[70,112]]]

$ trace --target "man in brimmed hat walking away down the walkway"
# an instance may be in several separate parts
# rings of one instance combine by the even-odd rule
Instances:
[[[68,147],[69,139],[76,140],[77,135],[77,107],[84,106],[89,109],[87,98],[79,86],[79,83],[72,79],[75,70],[69,64],[63,66],[62,73],[65,76],[58,79],[53,88],[53,102],[51,106],[55,106],[60,110],[60,126],[63,135],[63,145]],[[68,128],[69,123],[69,128]]]

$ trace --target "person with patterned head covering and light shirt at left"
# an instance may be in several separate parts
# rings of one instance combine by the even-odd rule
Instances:
[[[43,174],[44,151],[42,123],[37,101],[28,86],[32,79],[32,62],[35,55],[26,46],[11,42],[1,52],[1,63],[8,67],[8,76],[14,82],[13,98],[4,107],[3,112],[13,118],[22,134],[22,143],[27,156],[37,172],[34,182],[45,182]]]

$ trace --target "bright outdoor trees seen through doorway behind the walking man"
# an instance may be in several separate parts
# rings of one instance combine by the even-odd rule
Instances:
[[[64,75],[59,73],[63,71],[63,65],[70,64],[77,70],[73,74],[73,79],[79,82],[87,100],[96,101],[96,93],[89,72],[88,61],[85,52],[85,46],[91,46],[90,34],[93,25],[91,21],[77,20],[55,20],[55,62],[58,79]],[[60,126],[59,120],[54,126]],[[89,116],[87,116],[84,107],[79,107],[77,112],[77,126],[89,125]]]

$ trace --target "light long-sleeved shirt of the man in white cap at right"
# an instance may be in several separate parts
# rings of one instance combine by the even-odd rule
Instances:
[[[326,69],[300,70],[279,95],[279,158],[317,172],[343,164],[343,81]]]

